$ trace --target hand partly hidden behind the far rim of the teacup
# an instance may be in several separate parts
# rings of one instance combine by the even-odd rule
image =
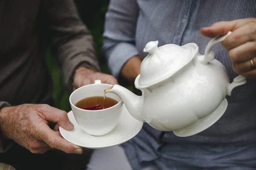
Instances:
[[[117,79],[109,74],[96,72],[85,67],[79,67],[74,75],[73,90],[84,85],[93,84],[97,79],[100,79],[101,82],[105,84],[118,84]]]

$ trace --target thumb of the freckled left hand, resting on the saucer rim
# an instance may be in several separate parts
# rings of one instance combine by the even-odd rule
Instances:
[[[41,107],[40,113],[44,116],[43,119],[49,122],[55,122],[66,130],[72,130],[74,128],[65,111],[46,105]]]

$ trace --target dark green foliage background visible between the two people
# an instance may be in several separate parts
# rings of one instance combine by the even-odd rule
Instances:
[[[89,28],[94,37],[102,72],[109,74],[110,72],[108,65],[101,51],[105,13],[108,8],[109,0],[93,0],[90,2],[86,0],[75,0],[75,3],[81,19]],[[56,107],[64,111],[70,111],[71,108],[68,101],[69,95],[66,93],[62,85],[61,71],[58,68],[55,58],[51,56],[49,50],[46,52],[45,59],[52,76],[53,99],[55,100]]]

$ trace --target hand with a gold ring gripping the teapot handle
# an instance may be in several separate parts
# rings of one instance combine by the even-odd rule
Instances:
[[[228,31],[233,32],[222,45],[229,50],[233,70],[244,77],[256,78],[256,18],[214,23],[202,28],[201,34],[213,38]]]

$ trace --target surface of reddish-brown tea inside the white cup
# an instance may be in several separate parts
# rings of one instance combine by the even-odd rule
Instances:
[[[94,96],[80,100],[75,104],[75,106],[84,110],[96,111],[110,108],[117,103],[118,102],[115,99],[112,99],[110,97],[105,97],[104,99],[103,96]]]

